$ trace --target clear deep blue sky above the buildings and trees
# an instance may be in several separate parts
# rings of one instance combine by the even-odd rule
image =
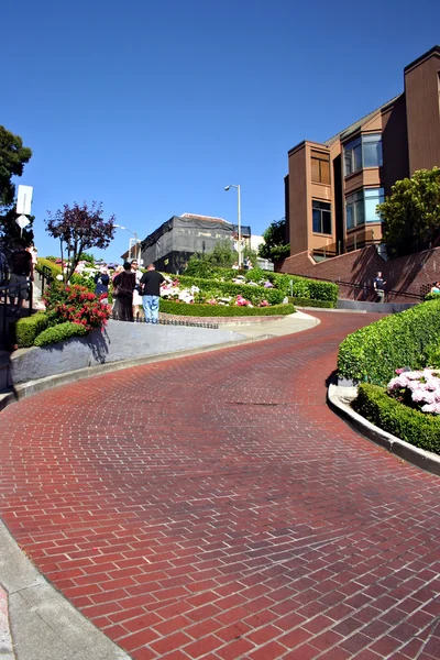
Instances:
[[[184,212],[235,222],[228,184],[262,233],[284,216],[287,151],[399,94],[404,67],[440,42],[436,0],[22,0],[1,13],[0,123],[33,150],[15,183],[34,187],[42,256],[58,254],[47,209],[102,201],[145,238]]]

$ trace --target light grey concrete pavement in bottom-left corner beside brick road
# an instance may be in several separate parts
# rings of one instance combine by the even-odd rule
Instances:
[[[128,660],[57,592],[0,522],[0,656],[7,660]],[[13,640],[13,644],[12,644]],[[4,649],[4,650],[3,650]]]

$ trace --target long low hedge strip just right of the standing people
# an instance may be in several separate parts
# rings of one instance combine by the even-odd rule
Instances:
[[[295,312],[293,305],[273,305],[272,307],[239,307],[230,305],[198,305],[174,302],[161,298],[160,310],[164,314],[193,317],[243,317],[243,316],[286,316]]]

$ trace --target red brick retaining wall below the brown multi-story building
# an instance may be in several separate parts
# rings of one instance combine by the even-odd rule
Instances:
[[[319,263],[315,263],[308,252],[301,252],[295,256],[289,256],[279,265],[279,272],[282,273],[305,275],[337,283],[346,282],[367,287],[373,286],[373,278],[376,276],[377,271],[382,271],[387,283],[386,288],[397,292],[397,294],[387,295],[388,301],[416,301],[402,294],[425,295],[432,284],[440,279],[440,248],[402,256],[388,262],[384,262],[378,256],[374,245]],[[372,290],[365,294],[360,288],[340,285],[340,297],[374,300],[375,296]]]

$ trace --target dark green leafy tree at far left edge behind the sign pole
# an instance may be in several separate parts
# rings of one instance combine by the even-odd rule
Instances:
[[[14,207],[15,186],[13,176],[21,176],[26,163],[31,160],[32,151],[23,146],[20,135],[14,135],[0,127],[0,233],[8,242],[20,237],[20,227],[15,222],[16,213]],[[23,239],[31,243],[33,240],[32,221],[23,230]]]

